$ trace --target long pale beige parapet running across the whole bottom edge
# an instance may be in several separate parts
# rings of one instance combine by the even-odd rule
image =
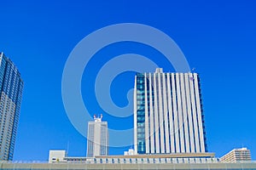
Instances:
[[[97,159],[96,159],[97,161]],[[254,170],[256,169],[256,163],[255,162],[242,162],[242,163],[223,163],[223,162],[216,162],[216,161],[210,161],[210,160],[204,160],[204,161],[175,161],[172,162],[172,160],[168,160],[162,163],[164,160],[158,160],[155,162],[150,163],[144,163],[143,160],[132,160],[132,161],[125,161],[121,162],[118,159],[114,160],[116,162],[108,161],[108,162],[84,162],[84,161],[78,161],[78,162],[71,162],[66,163],[64,162],[58,162],[58,163],[42,163],[42,162],[0,162],[1,169],[3,170],[50,170],[50,169],[58,169],[58,170],[68,170],[68,169],[77,169],[77,170],[96,170],[96,169],[165,169],[165,170]]]

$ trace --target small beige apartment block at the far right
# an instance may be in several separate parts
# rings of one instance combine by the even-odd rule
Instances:
[[[247,148],[231,150],[226,155],[220,158],[221,161],[238,162],[238,161],[251,161],[251,152]]]

